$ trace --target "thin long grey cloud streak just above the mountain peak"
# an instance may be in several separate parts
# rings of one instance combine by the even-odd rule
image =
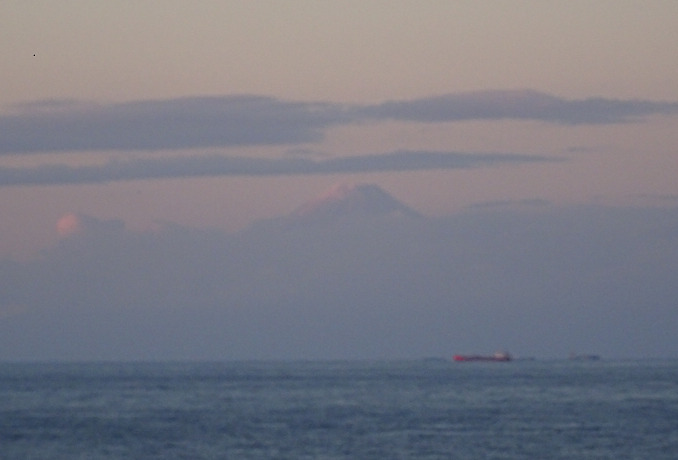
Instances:
[[[397,151],[327,159],[246,158],[201,155],[115,160],[96,166],[60,164],[0,168],[0,187],[16,185],[93,184],[140,179],[208,176],[284,176],[388,171],[460,169],[500,164],[558,161],[539,155]]]

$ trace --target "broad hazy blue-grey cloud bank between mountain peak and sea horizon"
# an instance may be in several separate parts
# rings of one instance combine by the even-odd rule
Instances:
[[[332,215],[67,216],[39,258],[0,259],[0,359],[675,357],[676,208]]]

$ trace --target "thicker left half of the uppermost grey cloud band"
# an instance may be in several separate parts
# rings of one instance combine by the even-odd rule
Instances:
[[[161,150],[316,141],[346,123],[337,104],[214,96],[87,104],[23,104],[0,117],[0,152]]]

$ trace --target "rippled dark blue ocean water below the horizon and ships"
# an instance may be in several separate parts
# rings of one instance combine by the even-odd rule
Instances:
[[[0,364],[0,459],[676,459],[678,361]]]

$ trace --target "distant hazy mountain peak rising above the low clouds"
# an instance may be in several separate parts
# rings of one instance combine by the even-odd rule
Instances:
[[[297,208],[292,218],[327,220],[376,216],[421,217],[374,184],[338,184]]]

